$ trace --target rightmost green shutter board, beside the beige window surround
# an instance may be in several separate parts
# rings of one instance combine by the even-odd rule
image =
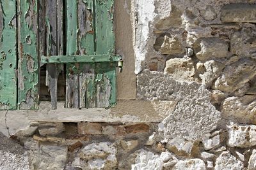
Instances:
[[[113,32],[113,0],[95,0],[97,55],[112,54],[115,50]],[[108,108],[116,103],[115,64],[104,62],[96,64],[98,108]]]

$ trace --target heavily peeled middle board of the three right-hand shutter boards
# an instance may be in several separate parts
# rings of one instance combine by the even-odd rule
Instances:
[[[78,0],[78,50],[79,55],[95,53],[95,23],[93,22],[93,1]],[[97,57],[91,58],[95,62]],[[95,64],[80,64],[79,108],[95,108]]]

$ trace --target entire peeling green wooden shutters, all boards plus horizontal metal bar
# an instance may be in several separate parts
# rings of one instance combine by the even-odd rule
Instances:
[[[115,106],[113,0],[0,3],[0,110],[38,109],[40,64],[47,64],[52,109],[64,64],[66,108]]]

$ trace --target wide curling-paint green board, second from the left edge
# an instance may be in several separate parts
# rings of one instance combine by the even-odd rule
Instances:
[[[37,1],[18,0],[20,110],[38,109]],[[9,9],[10,10],[10,9]]]

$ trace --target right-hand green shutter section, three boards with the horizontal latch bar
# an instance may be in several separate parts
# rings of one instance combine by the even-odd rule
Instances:
[[[66,63],[66,108],[116,104],[113,0],[65,1],[66,55],[44,56],[44,64]]]

